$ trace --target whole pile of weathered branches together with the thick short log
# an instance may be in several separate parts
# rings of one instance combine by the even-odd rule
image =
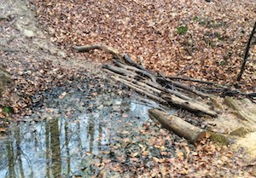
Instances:
[[[179,78],[166,78],[162,74],[151,72],[131,60],[128,55],[121,55],[117,49],[98,44],[74,46],[73,49],[79,52],[101,49],[112,54],[114,56],[113,65],[103,66],[103,70],[110,74],[110,78],[124,83],[131,89],[160,102],[162,105],[183,108],[199,115],[218,116],[213,103],[212,106],[208,104],[212,95],[201,92],[188,84],[177,82]],[[195,80],[194,82],[210,83]],[[148,115],[150,118],[162,123],[166,129],[172,130],[192,143],[212,135],[205,129],[198,128],[182,118],[170,116],[167,112],[162,112],[158,109],[148,110]]]

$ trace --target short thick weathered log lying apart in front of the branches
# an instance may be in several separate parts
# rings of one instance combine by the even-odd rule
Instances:
[[[182,118],[171,116],[166,112],[158,109],[149,109],[149,117],[158,120],[166,129],[171,130],[175,134],[184,137],[191,143],[195,143],[202,138],[210,136],[206,130],[198,128],[191,123],[184,121]]]

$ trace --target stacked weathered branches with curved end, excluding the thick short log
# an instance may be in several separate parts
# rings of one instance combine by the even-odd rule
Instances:
[[[108,69],[108,72],[112,74],[111,78],[121,83],[125,83],[128,87],[135,89],[140,94],[147,95],[167,106],[172,105],[182,107],[195,113],[204,113],[213,117],[217,116],[217,112],[210,106],[200,100],[190,98],[186,94],[192,92],[201,96],[201,98],[206,98],[209,95],[202,93],[189,85],[172,81],[165,76],[157,76],[154,72],[150,72],[143,66],[137,65],[137,63],[131,60],[128,55],[120,55],[117,49],[98,44],[81,47],[74,46],[73,49],[76,49],[79,52],[88,52],[91,49],[102,49],[114,55],[118,58],[118,60],[113,60],[115,66],[105,65],[103,68]],[[173,86],[175,86],[175,89],[173,89]],[[187,91],[186,94],[181,92],[184,90]]]

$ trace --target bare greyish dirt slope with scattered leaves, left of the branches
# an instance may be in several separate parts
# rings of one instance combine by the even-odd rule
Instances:
[[[88,71],[96,72],[96,63],[79,60],[79,56],[67,60],[66,52],[50,43],[38,29],[34,14],[24,2],[1,1],[0,25],[0,63],[14,81],[3,93],[1,106],[29,113],[32,95],[74,78],[87,78],[84,73]],[[7,115],[1,108],[0,118]]]

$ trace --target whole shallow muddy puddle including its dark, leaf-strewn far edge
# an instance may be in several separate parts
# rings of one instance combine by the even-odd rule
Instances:
[[[86,167],[85,158],[108,152],[122,139],[119,133],[136,132],[150,122],[148,108],[158,107],[93,84],[50,89],[38,97],[32,99],[32,114],[14,123],[0,141],[0,177],[73,175]]]

